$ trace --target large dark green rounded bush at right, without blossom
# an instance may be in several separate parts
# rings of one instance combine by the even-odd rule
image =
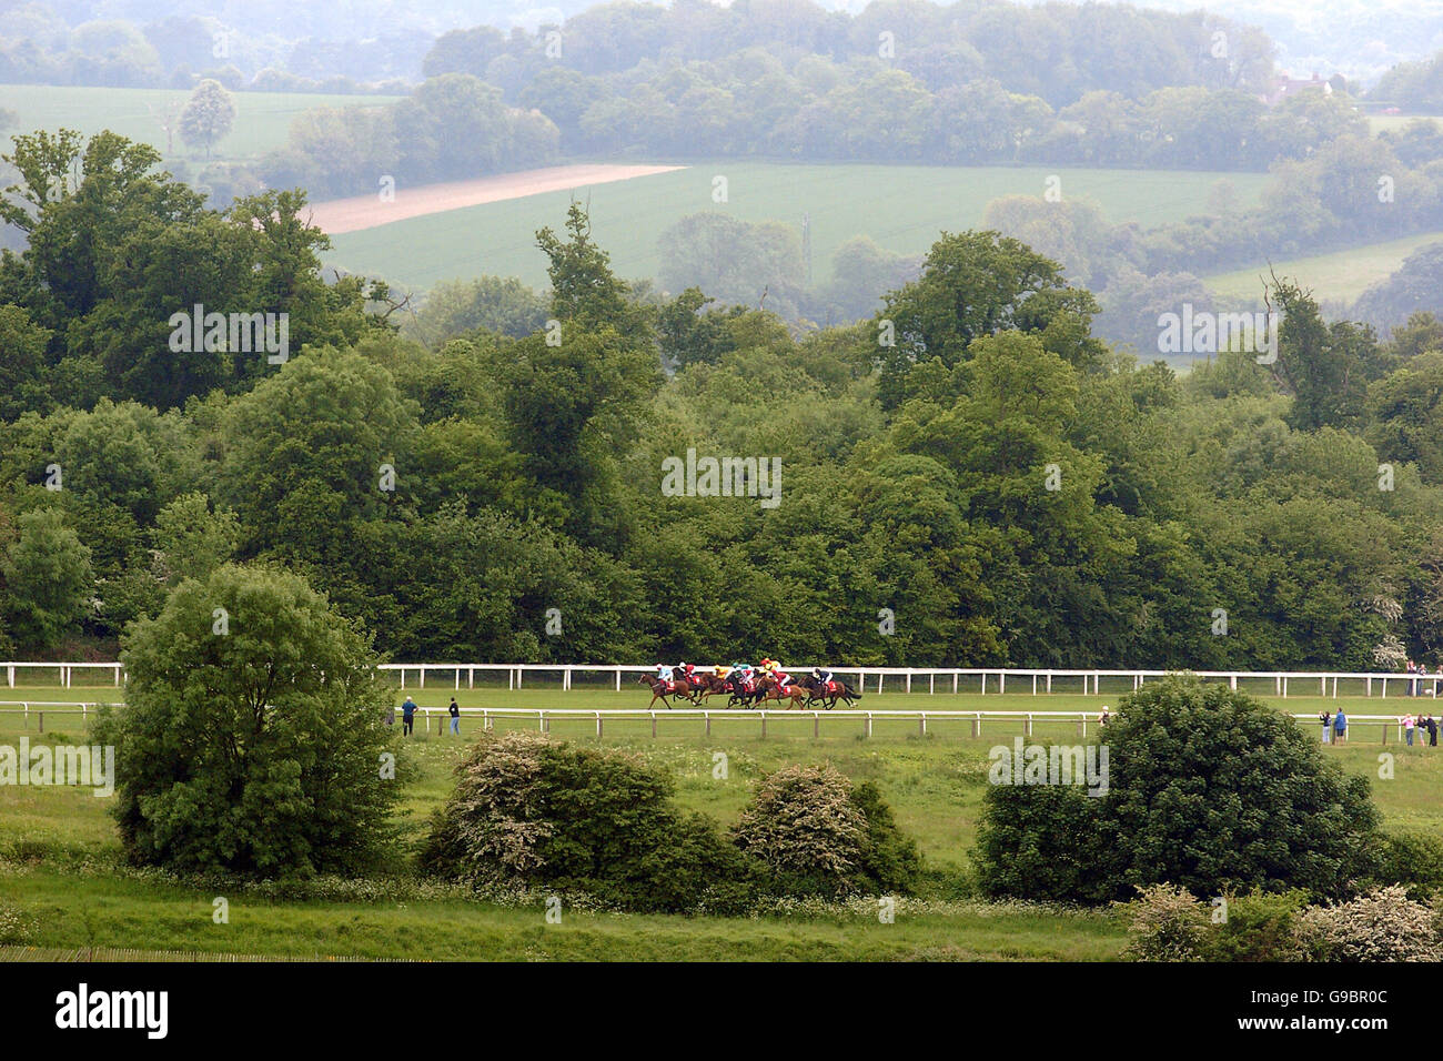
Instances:
[[[1170,882],[1196,895],[1342,898],[1374,869],[1368,781],[1316,736],[1227,686],[1172,677],[1123,700],[1107,794],[990,787],[978,876],[990,895],[1102,902]]]

